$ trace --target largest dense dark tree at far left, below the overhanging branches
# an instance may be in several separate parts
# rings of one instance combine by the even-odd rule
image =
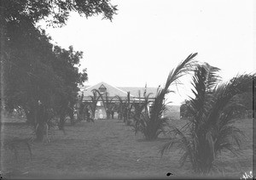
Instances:
[[[31,121],[37,114],[38,100],[49,105],[62,81],[53,70],[55,54],[44,32],[26,21],[9,22],[7,27],[6,56],[1,59],[6,78],[3,97],[9,110],[20,106]]]

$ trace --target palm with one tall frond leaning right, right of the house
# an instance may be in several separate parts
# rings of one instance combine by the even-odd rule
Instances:
[[[166,85],[160,89],[154,98],[151,115],[144,115],[139,121],[139,126],[143,127],[141,130],[143,135],[148,140],[158,138],[161,132],[165,132],[164,128],[168,126],[168,119],[164,116],[166,112],[165,96],[171,93],[168,88],[172,83],[180,83],[178,79],[181,76],[188,74],[195,68],[195,58],[197,53],[192,53],[187,59],[183,60],[177,67],[171,70],[166,80]]]

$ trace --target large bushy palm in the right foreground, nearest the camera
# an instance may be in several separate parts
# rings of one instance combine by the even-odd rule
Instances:
[[[181,166],[189,158],[197,173],[210,172],[224,150],[234,155],[241,153],[243,132],[233,124],[233,111],[240,105],[236,103],[237,95],[252,91],[255,75],[240,75],[219,83],[218,70],[208,64],[198,65],[192,82],[195,98],[188,105],[189,122],[186,128],[173,127],[174,138],[161,149],[163,155],[177,145],[183,151]]]

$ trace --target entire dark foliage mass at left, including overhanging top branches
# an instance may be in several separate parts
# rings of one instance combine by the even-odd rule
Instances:
[[[78,84],[87,80],[86,69],[79,72],[83,53],[53,46],[36,24],[65,25],[71,12],[112,20],[116,11],[108,0],[0,0],[1,110],[21,107],[35,127],[49,119],[41,120],[39,101],[46,112],[65,117],[77,101]]]

